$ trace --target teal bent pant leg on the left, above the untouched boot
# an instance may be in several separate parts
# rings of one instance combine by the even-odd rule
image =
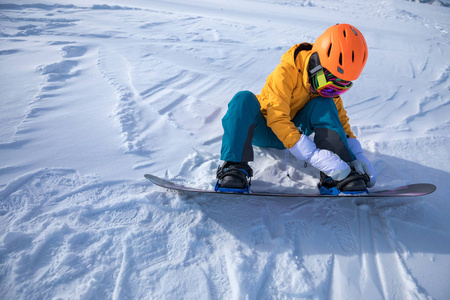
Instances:
[[[249,92],[237,93],[228,103],[228,110],[222,119],[221,160],[248,162],[253,160],[252,139],[255,120],[260,114],[258,98]]]

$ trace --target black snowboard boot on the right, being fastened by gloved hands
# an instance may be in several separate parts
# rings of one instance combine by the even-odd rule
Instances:
[[[367,183],[369,180],[369,176],[356,171],[352,171],[347,178],[341,181],[336,181],[325,173],[320,172],[320,183],[318,187],[322,195],[368,194]]]

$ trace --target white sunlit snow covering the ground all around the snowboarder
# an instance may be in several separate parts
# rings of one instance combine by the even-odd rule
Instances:
[[[421,2],[2,1],[2,299],[448,299],[450,8]],[[435,193],[224,199],[143,179],[211,189],[231,97],[339,22],[369,45],[343,99],[375,188]],[[255,149],[253,188],[315,190],[284,154]]]

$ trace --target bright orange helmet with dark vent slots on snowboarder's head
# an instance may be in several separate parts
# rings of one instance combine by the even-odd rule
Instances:
[[[331,26],[314,42],[312,52],[320,64],[336,77],[353,81],[367,61],[367,44],[362,33],[349,24]]]

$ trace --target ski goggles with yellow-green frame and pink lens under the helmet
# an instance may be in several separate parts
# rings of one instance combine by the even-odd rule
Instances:
[[[353,82],[339,79],[325,68],[320,68],[310,78],[311,91],[322,97],[337,97],[353,86]]]

